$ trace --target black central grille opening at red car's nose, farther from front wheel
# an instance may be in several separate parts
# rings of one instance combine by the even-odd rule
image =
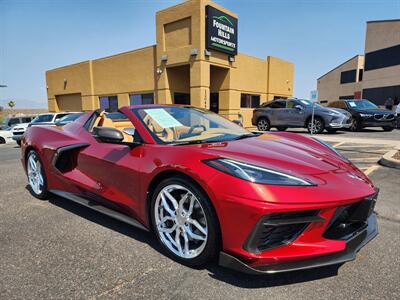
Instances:
[[[332,240],[347,240],[367,226],[367,219],[374,210],[376,195],[357,203],[336,209],[322,235]]]

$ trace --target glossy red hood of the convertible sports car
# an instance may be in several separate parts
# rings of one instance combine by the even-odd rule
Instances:
[[[247,162],[292,175],[317,175],[351,170],[351,163],[310,138],[263,134],[242,140],[203,144],[210,156]]]

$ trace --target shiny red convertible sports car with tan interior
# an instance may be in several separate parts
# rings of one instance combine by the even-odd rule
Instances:
[[[95,111],[22,141],[29,187],[145,230],[188,266],[252,274],[340,264],[377,233],[377,189],[328,144],[174,105]]]

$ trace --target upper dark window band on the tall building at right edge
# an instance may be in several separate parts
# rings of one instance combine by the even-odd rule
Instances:
[[[400,45],[365,54],[365,71],[400,65]]]

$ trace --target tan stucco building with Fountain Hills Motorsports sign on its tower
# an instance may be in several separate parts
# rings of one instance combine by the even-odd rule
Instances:
[[[237,15],[211,1],[157,12],[156,35],[156,45],[47,71],[49,111],[190,104],[251,126],[254,107],[293,95],[294,65],[238,53]]]

